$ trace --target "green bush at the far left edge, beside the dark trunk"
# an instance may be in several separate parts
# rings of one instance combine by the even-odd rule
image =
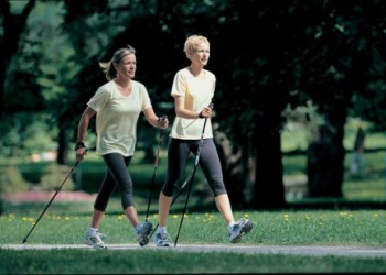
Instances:
[[[0,167],[0,194],[25,191],[30,187],[17,166]]]

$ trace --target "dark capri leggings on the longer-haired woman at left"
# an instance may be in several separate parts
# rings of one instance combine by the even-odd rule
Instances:
[[[131,156],[110,153],[103,155],[103,157],[107,165],[107,172],[95,200],[94,209],[105,212],[110,196],[117,186],[121,189],[122,208],[126,209],[129,206],[135,206],[132,199],[132,180],[128,170]]]

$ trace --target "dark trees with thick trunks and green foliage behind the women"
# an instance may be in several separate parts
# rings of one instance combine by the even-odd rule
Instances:
[[[183,43],[202,34],[217,77],[215,141],[233,204],[286,205],[281,134],[288,110],[310,106],[308,196],[342,198],[347,118],[385,130],[385,13],[380,0],[1,1],[1,155],[55,150],[57,164],[67,164],[82,111],[106,81],[98,63],[127,44],[137,50],[136,79],[172,121],[172,78],[189,65]],[[150,162],[156,132],[142,122],[138,148]]]

